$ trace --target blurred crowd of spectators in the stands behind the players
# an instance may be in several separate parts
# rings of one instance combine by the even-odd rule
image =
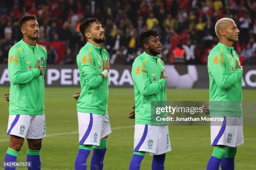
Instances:
[[[65,41],[65,55],[59,64],[73,64],[86,43],[79,31],[84,18],[97,18],[105,29],[104,46],[111,64],[131,64],[143,51],[138,44],[142,30],[158,30],[162,53],[169,64],[206,64],[217,43],[215,23],[232,18],[240,30],[234,43],[242,64],[256,64],[255,0],[1,0],[0,63],[7,63],[10,47],[21,38],[19,19],[38,17],[38,42]],[[48,63],[58,52],[46,47]]]

